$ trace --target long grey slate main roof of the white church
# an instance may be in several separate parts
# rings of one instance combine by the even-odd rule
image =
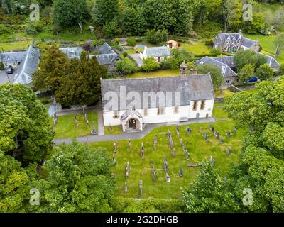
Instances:
[[[134,106],[143,108],[157,108],[175,106],[175,92],[180,92],[180,106],[190,105],[190,101],[209,100],[214,99],[214,89],[210,74],[197,74],[195,76],[187,76],[185,79],[182,77],[148,77],[138,79],[102,79],[102,101],[104,111],[125,111],[121,109],[120,99],[118,106],[113,107],[112,110],[106,108],[105,104],[109,102],[107,93],[115,93],[120,96],[121,89],[126,89],[126,94],[129,92],[138,92],[141,99],[143,99],[143,92],[172,92],[172,100],[167,99],[165,106],[159,106],[157,101],[151,103],[151,100],[146,101],[148,107],[140,103],[140,99]],[[131,93],[130,93],[131,94]],[[144,100],[145,101],[145,100]],[[142,101],[141,101],[142,102]],[[133,104],[133,100],[126,100],[126,106]],[[142,109],[142,108],[141,108]]]

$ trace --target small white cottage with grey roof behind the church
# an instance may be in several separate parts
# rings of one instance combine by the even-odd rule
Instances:
[[[140,53],[140,58],[143,60],[147,57],[153,57],[156,62],[162,62],[165,57],[170,57],[170,48],[163,46],[158,48],[145,47],[144,51]]]

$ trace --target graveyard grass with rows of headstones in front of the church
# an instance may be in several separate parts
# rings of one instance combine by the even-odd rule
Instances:
[[[223,109],[215,109],[214,116],[217,119],[225,120],[226,113]],[[216,160],[215,168],[220,177],[226,176],[229,179],[229,169],[231,165],[237,164],[239,153],[242,146],[242,138],[245,132],[244,128],[239,128],[236,135],[232,133],[231,138],[226,138],[228,130],[233,131],[236,122],[229,119],[225,121],[217,121],[212,126],[224,138],[224,144],[221,145],[213,133],[209,131],[209,123],[198,123],[190,125],[192,135],[187,134],[187,126],[180,126],[180,134],[182,141],[190,153],[190,160],[187,161],[185,152],[180,146],[180,140],[175,131],[175,126],[155,128],[151,133],[141,140],[132,140],[131,148],[128,148],[128,140],[118,141],[117,152],[115,155],[116,166],[113,167],[114,175],[117,178],[117,196],[140,198],[139,181],[143,180],[143,196],[142,198],[158,198],[158,199],[175,199],[182,196],[180,187],[191,187],[192,181],[197,177],[200,168],[187,167],[187,164],[196,164],[209,159],[212,155]],[[199,128],[202,127],[202,133]],[[168,128],[173,136],[176,157],[172,157],[172,152],[168,143]],[[208,133],[209,143],[204,140],[205,131]],[[158,136],[158,148],[153,150],[155,135]],[[141,160],[141,143],[143,143],[145,155]],[[91,143],[94,148],[105,148],[109,158],[112,159],[114,153],[114,141]],[[228,148],[232,148],[231,155],[227,155]],[[168,161],[170,183],[165,182],[165,172],[163,159]],[[151,170],[151,160],[153,160],[155,170],[157,170],[157,180],[153,183],[153,175]],[[130,175],[127,179],[128,192],[124,193],[125,168],[126,163],[130,162]],[[178,176],[180,167],[184,169],[183,177]],[[206,185],[204,185],[206,187]]]

